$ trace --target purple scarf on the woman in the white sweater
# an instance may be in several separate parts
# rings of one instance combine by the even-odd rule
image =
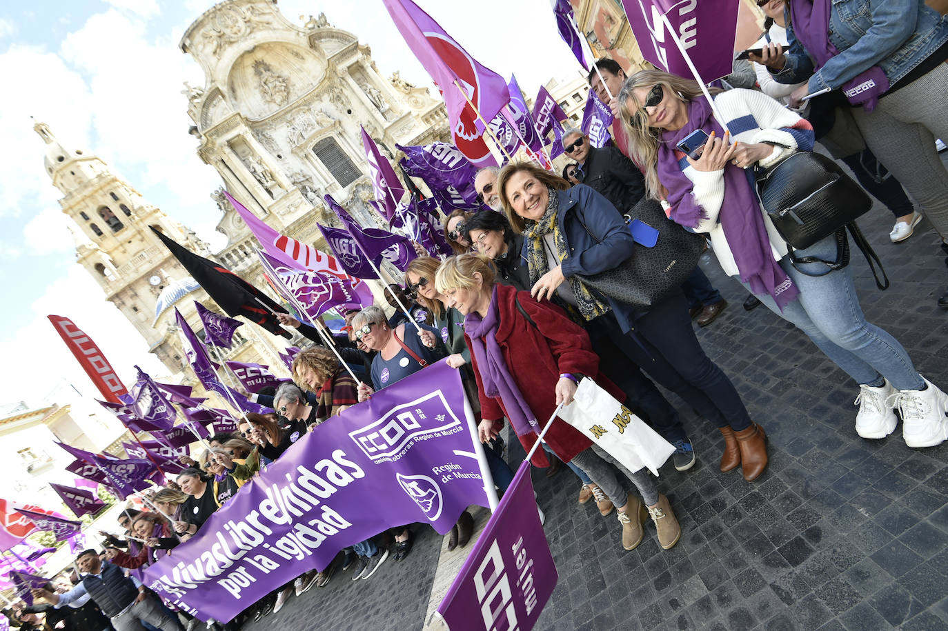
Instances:
[[[707,99],[694,99],[687,103],[687,108],[688,122],[684,127],[676,132],[666,131],[659,137],[658,178],[668,189],[671,219],[685,227],[695,227],[707,215],[691,194],[694,185],[678,166],[675,145],[696,129],[709,135],[714,131],[719,138],[724,137],[724,130],[711,115]],[[750,284],[755,294],[766,292],[774,297],[777,307],[783,311],[800,292],[774,261],[757,193],[747,181],[747,174],[730,162],[724,167],[724,201],[719,220],[740,278]]]

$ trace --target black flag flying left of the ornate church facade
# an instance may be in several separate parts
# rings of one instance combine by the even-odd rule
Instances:
[[[277,316],[272,313],[285,314],[286,310],[264,292],[228,270],[227,267],[209,261],[182,247],[179,243],[162,234],[161,231],[155,230],[154,227],[152,227],[152,231],[171,250],[174,258],[184,265],[191,276],[204,287],[204,291],[208,292],[214,302],[219,304],[228,315],[243,315],[251,322],[264,327],[271,334],[283,335],[286,338],[292,337],[288,331],[280,326]],[[265,308],[261,302],[269,309]]]

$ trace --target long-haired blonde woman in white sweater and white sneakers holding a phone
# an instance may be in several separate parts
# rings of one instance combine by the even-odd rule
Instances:
[[[754,164],[772,166],[796,150],[810,151],[810,123],[766,95],[736,89],[714,97],[725,130],[697,82],[657,70],[630,77],[618,100],[629,150],[642,165],[648,194],[661,199],[666,192],[671,219],[708,233],[724,271],[807,334],[860,385],[859,435],[881,439],[892,433],[898,422],[893,407],[898,406],[908,446],[944,442],[948,396],[915,370],[892,335],[866,322],[848,268],[791,263],[787,244],[743,171]],[[710,138],[693,159],[676,145],[697,129]],[[796,254],[833,261],[835,239],[830,235]]]

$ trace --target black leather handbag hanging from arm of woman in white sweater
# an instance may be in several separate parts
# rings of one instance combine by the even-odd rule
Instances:
[[[856,219],[872,207],[872,200],[846,171],[832,158],[815,152],[796,152],[774,167],[756,168],[757,195],[776,231],[788,245],[793,267],[807,276],[825,276],[849,263],[847,229],[853,242],[862,250],[876,279],[876,286],[889,286],[882,261],[856,225]],[[793,249],[804,249],[826,239],[836,238],[836,260],[797,257]],[[879,266],[877,273],[876,267]],[[828,267],[823,274],[800,269],[801,263],[822,262]],[[882,274],[884,282],[879,280]]]

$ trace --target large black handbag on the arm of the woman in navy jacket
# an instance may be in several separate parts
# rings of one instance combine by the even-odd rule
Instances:
[[[662,205],[647,197],[640,199],[626,217],[629,222],[638,220],[658,230],[654,245],[635,243],[635,251],[625,261],[605,272],[579,278],[605,297],[625,302],[638,311],[647,311],[691,275],[707,242],[702,235],[688,232],[668,219]],[[602,242],[602,235],[592,232],[590,235]]]

